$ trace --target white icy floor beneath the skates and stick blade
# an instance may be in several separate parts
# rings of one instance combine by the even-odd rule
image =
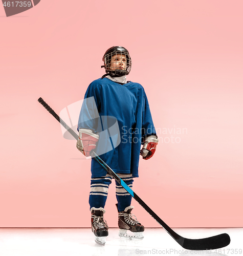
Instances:
[[[91,228],[0,228],[0,256],[134,256],[134,255],[236,255],[243,256],[243,228],[175,228],[186,238],[205,238],[228,233],[231,243],[221,250],[183,249],[162,228],[147,228],[144,239],[118,237],[110,228],[105,246],[94,242]]]

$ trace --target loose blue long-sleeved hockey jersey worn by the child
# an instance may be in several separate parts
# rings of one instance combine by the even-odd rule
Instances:
[[[94,100],[89,101],[90,98]],[[99,134],[96,154],[115,173],[138,177],[142,137],[156,135],[141,84],[119,84],[99,78],[87,88],[84,99],[78,130],[87,128]],[[91,173],[92,178],[106,175],[95,159],[91,162]]]

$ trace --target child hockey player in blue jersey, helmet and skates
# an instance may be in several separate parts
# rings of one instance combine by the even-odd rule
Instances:
[[[133,179],[138,177],[139,156],[145,160],[150,159],[159,141],[143,87],[126,80],[131,69],[128,51],[120,46],[111,47],[102,60],[104,66],[101,68],[105,68],[106,74],[93,81],[85,93],[78,121],[77,148],[86,157],[95,150],[131,188]],[[114,137],[107,132],[111,123],[114,124],[112,117],[117,120],[120,141],[117,135]],[[112,148],[108,148],[108,145]],[[104,206],[112,177],[94,159],[91,162],[91,173],[89,203],[92,231],[95,241],[104,244],[108,236],[108,226],[103,218]],[[119,236],[142,239],[144,226],[132,216],[131,210],[134,207],[130,205],[131,196],[117,181],[116,198]],[[127,230],[133,233],[132,236]]]

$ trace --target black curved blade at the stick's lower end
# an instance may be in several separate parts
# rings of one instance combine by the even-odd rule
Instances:
[[[227,233],[203,239],[185,238],[181,246],[188,250],[213,250],[230,244],[230,236]]]

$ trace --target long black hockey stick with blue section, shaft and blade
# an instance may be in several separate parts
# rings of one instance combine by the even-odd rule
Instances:
[[[46,110],[52,114],[60,124],[67,129],[73,137],[77,140],[78,135],[54,112],[54,110],[42,99],[38,99],[39,103],[43,105]],[[160,217],[150,209],[147,204],[137,195],[132,189],[130,189],[127,184],[93,151],[93,157],[98,161],[102,167],[110,174],[121,186],[123,186],[126,191],[155,219],[169,234],[170,236],[178,242],[183,248],[188,250],[210,250],[218,249],[229,245],[230,237],[227,233],[218,234],[217,236],[203,238],[203,239],[188,239],[181,237],[178,233],[173,231]]]

